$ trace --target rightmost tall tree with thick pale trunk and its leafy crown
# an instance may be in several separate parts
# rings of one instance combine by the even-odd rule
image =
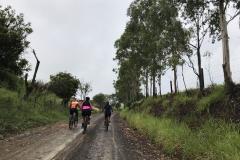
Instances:
[[[189,0],[190,1],[190,0]],[[230,51],[229,51],[229,35],[227,30],[227,25],[233,19],[240,15],[240,1],[239,0],[202,0],[199,1],[200,8],[204,7],[208,9],[209,19],[205,21],[208,25],[207,28],[210,29],[210,35],[213,37],[213,42],[216,37],[222,40],[222,50],[223,50],[223,73],[224,82],[226,88],[230,89],[233,87],[231,68],[230,68]],[[235,13],[231,15],[230,19],[227,20],[226,15],[228,9],[235,9]],[[192,10],[193,14],[199,14],[198,10]],[[206,15],[204,15],[206,16]],[[205,18],[206,19],[206,18]]]

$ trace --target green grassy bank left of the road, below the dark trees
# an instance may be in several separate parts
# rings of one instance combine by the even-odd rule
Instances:
[[[67,109],[54,94],[32,95],[24,101],[14,91],[0,88],[0,134],[24,131],[67,119]]]

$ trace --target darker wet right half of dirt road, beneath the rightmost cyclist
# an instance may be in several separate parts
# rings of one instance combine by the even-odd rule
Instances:
[[[54,160],[170,160],[118,114],[113,114],[108,131],[102,114],[91,121],[86,134],[80,134]]]

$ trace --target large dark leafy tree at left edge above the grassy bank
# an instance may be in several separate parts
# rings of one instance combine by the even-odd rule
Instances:
[[[30,23],[24,22],[23,14],[16,14],[10,6],[0,6],[0,70],[15,75],[28,71],[28,61],[22,54],[29,46],[27,36],[32,33]]]

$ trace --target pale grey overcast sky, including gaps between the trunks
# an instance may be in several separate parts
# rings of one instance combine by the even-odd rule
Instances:
[[[11,5],[17,13],[24,13],[34,32],[29,36],[31,47],[41,61],[37,79],[48,81],[51,74],[67,71],[81,80],[90,82],[93,91],[114,92],[112,69],[115,54],[114,42],[124,31],[128,17],[127,8],[132,0],[0,0],[0,5]],[[240,81],[240,29],[238,20],[229,25],[230,52],[233,79]],[[204,42],[202,52],[210,51],[211,74],[216,83],[223,82],[221,43]],[[25,55],[35,66],[33,55]],[[203,64],[208,61],[203,59]],[[204,68],[205,69],[205,68]],[[205,71],[206,84],[209,77]],[[196,87],[197,79],[191,69],[185,67],[188,87]],[[179,87],[183,88],[181,71]],[[163,92],[169,91],[173,74],[163,78]]]

